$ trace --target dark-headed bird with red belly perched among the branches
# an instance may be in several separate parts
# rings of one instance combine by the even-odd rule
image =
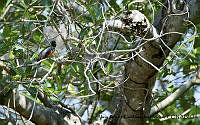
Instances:
[[[39,53],[37,61],[40,61],[42,59],[49,57],[55,51],[56,41],[51,41],[50,43],[51,43],[50,46],[46,47],[44,50],[42,50]]]

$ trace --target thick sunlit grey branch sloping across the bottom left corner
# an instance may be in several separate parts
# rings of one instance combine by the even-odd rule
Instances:
[[[32,108],[34,108],[33,116],[31,118],[31,121],[38,124],[38,125],[71,125],[76,123],[80,123],[80,120],[78,117],[73,116],[69,112],[63,112],[63,110],[56,111],[54,109],[45,107],[41,104],[35,104],[34,107],[34,101],[29,99],[28,97],[16,93],[14,96],[12,95],[12,92],[9,92],[11,95],[10,98],[10,107],[15,109],[17,112],[19,112],[22,116],[25,118],[29,118]],[[6,94],[7,95],[7,94]],[[0,104],[1,105],[7,105],[9,102],[8,96],[5,96],[4,94],[0,94]],[[13,101],[14,100],[14,101]]]

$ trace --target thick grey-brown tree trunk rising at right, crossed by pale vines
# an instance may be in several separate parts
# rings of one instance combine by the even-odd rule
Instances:
[[[167,1],[170,1],[170,3]],[[154,27],[158,34],[186,32],[188,27],[184,25],[187,22],[185,20],[192,19],[195,23],[199,23],[194,17],[200,15],[198,10],[200,1],[187,0],[179,3],[177,0],[166,0],[164,5],[167,9],[165,7],[161,8],[154,22]],[[147,36],[146,38],[150,37]],[[170,33],[161,37],[159,42],[148,41],[141,47],[143,51],[126,64],[124,78],[126,82],[122,85],[121,92],[118,92],[121,95],[116,95],[118,99],[121,96],[121,101],[119,101],[121,103],[117,103],[117,106],[115,106],[120,112],[116,111],[113,114],[110,124],[145,124],[145,117],[148,117],[150,113],[151,89],[155,83],[155,74],[157,72],[153,66],[158,68],[162,66],[163,61],[170,52],[169,48],[173,48],[180,38],[180,34]]]

